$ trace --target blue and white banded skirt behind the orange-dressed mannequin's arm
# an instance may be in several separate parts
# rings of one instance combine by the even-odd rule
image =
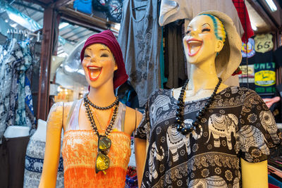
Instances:
[[[25,156],[25,178],[23,187],[37,188],[39,186],[42,175],[45,144],[40,140],[30,137],[30,142],[27,145]],[[63,158],[61,156],[59,161],[59,169],[57,173],[56,188],[63,188]]]

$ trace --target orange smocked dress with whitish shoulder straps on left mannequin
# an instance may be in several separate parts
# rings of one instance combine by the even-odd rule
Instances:
[[[130,136],[123,132],[125,106],[119,104],[113,131],[109,134],[110,167],[95,173],[97,134],[93,130],[79,130],[78,113],[82,100],[75,105],[63,136],[63,168],[65,187],[125,187],[125,175],[130,158]],[[104,130],[99,133],[104,134]]]

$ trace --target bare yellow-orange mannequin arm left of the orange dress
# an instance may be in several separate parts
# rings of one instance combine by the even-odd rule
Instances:
[[[47,120],[46,146],[40,188],[56,187],[61,149],[62,115],[62,104],[54,104]]]

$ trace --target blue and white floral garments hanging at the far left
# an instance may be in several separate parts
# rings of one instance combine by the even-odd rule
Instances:
[[[32,70],[30,47],[26,42],[18,44],[16,39],[8,42],[0,46],[0,144],[9,125],[35,128],[30,81],[26,74]]]

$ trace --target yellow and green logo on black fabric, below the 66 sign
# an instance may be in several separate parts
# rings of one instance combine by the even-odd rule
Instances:
[[[261,70],[255,73],[255,84],[259,86],[271,86],[276,82],[276,73],[272,70]]]

